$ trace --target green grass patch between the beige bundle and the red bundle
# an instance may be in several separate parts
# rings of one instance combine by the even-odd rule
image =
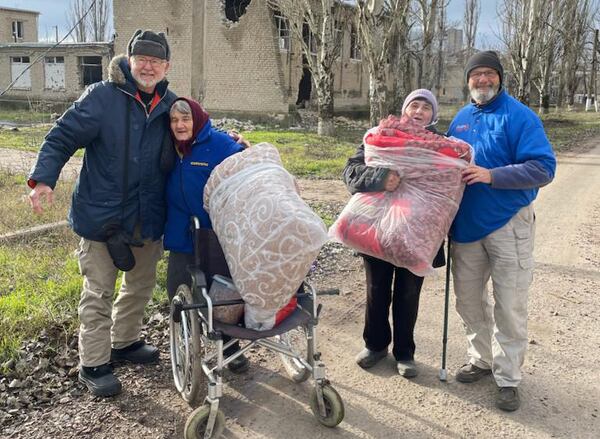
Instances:
[[[355,143],[310,132],[252,131],[243,135],[252,144],[275,145],[285,168],[303,178],[339,178],[346,159],[356,149]]]

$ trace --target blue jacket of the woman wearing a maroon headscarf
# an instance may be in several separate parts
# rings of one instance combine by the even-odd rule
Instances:
[[[164,247],[179,253],[193,253],[190,218],[200,219],[200,226],[212,229],[204,210],[204,186],[215,167],[227,157],[242,151],[228,134],[217,131],[208,120],[196,136],[192,151],[177,160],[167,178],[167,224]]]

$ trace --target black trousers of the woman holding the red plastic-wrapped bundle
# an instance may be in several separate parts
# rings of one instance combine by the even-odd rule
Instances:
[[[423,278],[406,268],[364,256],[367,307],[363,339],[368,349],[382,351],[392,342],[389,323],[392,305],[393,349],[396,361],[413,360],[414,329],[419,312],[419,296]]]

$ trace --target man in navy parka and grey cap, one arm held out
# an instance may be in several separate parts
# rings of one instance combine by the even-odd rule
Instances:
[[[111,361],[152,363],[159,352],[141,339],[144,307],[156,283],[165,222],[159,163],[168,130],[170,50],[163,33],[137,30],[109,79],[89,86],[52,127],[27,184],[34,212],[52,203],[62,167],[85,148],[69,223],[81,237],[79,380],[97,396],[121,383]],[[124,271],[113,304],[118,271]]]

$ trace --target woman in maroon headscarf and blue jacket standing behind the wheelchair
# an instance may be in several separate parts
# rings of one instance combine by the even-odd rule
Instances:
[[[202,269],[208,286],[216,274],[230,276],[223,250],[212,230],[210,217],[203,205],[204,186],[213,169],[243,150],[243,146],[212,127],[209,115],[201,105],[188,98],[177,99],[170,110],[171,133],[178,160],[167,178],[167,223],[164,247],[169,250],[167,292],[172,299],[181,284],[191,285],[187,266],[194,263],[194,245],[190,218],[200,220],[199,249]],[[226,342],[227,340],[224,341]],[[234,344],[226,351],[231,355],[239,349]],[[241,373],[248,369],[243,355],[228,364],[229,370]]]

